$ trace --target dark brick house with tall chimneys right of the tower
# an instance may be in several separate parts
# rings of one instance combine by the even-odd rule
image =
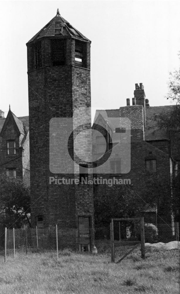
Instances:
[[[144,198],[144,193],[146,189],[146,182],[148,174],[151,176],[146,169],[146,161],[154,160],[156,162],[156,172],[153,173],[154,185],[160,181],[165,183],[169,188],[167,189],[167,194],[169,199],[171,198],[171,181],[173,176],[173,166],[178,161],[178,152],[175,153],[174,150],[179,150],[179,146],[174,146],[175,144],[169,136],[167,136],[167,131],[165,129],[159,129],[157,125],[157,110],[149,106],[149,101],[145,99],[144,87],[142,84],[135,85],[135,91],[133,98],[133,105],[130,106],[129,99],[127,101],[127,106],[120,107],[119,109],[106,110],[107,118],[103,126],[106,128],[108,124],[108,132],[111,134],[112,138],[116,129],[116,121],[113,118],[127,117],[130,119],[131,127],[131,168],[128,173],[121,174],[103,174],[103,178],[115,176],[116,178],[126,178],[130,179],[133,191],[139,195],[140,198]],[[161,108],[158,107],[158,108]],[[168,106],[162,106],[162,112],[166,109],[166,112],[171,111]],[[152,110],[151,110],[152,109]],[[152,115],[152,111],[154,111]],[[162,113],[161,109],[158,109],[158,114]],[[101,121],[101,111],[96,111],[94,123],[99,123]],[[146,120],[146,121],[145,121]],[[102,125],[102,122],[100,123]],[[127,131],[127,130],[126,130]],[[106,132],[103,134],[106,137]],[[147,141],[145,141],[147,140]],[[93,140],[94,141],[94,140]],[[116,142],[116,141],[115,141]],[[115,147],[116,148],[116,147]],[[173,153],[174,152],[174,153]],[[174,155],[172,157],[172,154]],[[120,163],[120,156],[111,155],[109,160],[109,169],[111,170],[111,160]],[[102,175],[101,175],[102,176]],[[116,186],[116,185],[115,185]],[[107,185],[96,185],[94,187],[94,193],[96,195],[109,195],[109,189]],[[121,185],[117,185],[116,189],[121,193]],[[166,196],[166,195],[165,195]],[[171,223],[172,215],[171,208],[163,208],[157,202],[157,214],[152,211],[147,211],[145,213],[145,221],[153,222],[154,224],[159,223]],[[144,211],[146,211],[145,209]],[[172,223],[173,226],[173,223]]]

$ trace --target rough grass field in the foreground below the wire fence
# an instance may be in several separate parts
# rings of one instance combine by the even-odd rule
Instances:
[[[179,294],[177,250],[149,252],[145,261],[136,250],[118,264],[109,254],[70,250],[58,262],[49,252],[8,255],[6,264],[1,255],[0,263],[0,294]]]

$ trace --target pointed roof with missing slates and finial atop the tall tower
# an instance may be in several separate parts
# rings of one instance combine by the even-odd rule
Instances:
[[[57,30],[60,28],[61,32],[57,34]],[[57,9],[57,14],[50,22],[48,22],[33,38],[31,38],[28,43],[39,40],[40,38],[54,37],[54,36],[65,36],[65,37],[75,37],[79,40],[85,40],[91,42],[83,34],[81,34],[77,29],[75,29],[67,20],[65,20],[59,13]],[[27,44],[28,44],[27,43]]]

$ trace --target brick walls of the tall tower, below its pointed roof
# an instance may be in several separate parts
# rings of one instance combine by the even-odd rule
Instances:
[[[77,227],[78,216],[91,216],[93,226],[93,187],[89,185],[49,184],[50,176],[79,177],[79,170],[72,174],[54,174],[49,168],[49,123],[54,117],[72,117],[75,108],[91,105],[90,71],[74,64],[75,40],[66,40],[66,65],[51,66],[50,40],[42,41],[42,68],[30,70],[28,56],[29,124],[30,124],[30,184],[32,224],[38,215],[44,217],[44,225]],[[87,67],[90,67],[90,44],[87,44]],[[28,45],[28,55],[30,45]],[[43,67],[44,65],[44,67]],[[38,93],[38,95],[36,94]],[[86,114],[81,117],[86,123]],[[76,124],[76,118],[72,123]],[[63,132],[61,138],[63,142]],[[64,142],[65,143],[65,142]],[[79,143],[82,146],[82,142]],[[57,148],[61,148],[57,146]],[[91,152],[91,148],[89,150]],[[74,163],[62,159],[67,165]],[[92,176],[91,176],[92,177]]]

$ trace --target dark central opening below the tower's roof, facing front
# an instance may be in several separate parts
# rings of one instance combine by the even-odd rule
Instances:
[[[65,65],[65,43],[64,40],[51,41],[51,60],[53,66]]]

